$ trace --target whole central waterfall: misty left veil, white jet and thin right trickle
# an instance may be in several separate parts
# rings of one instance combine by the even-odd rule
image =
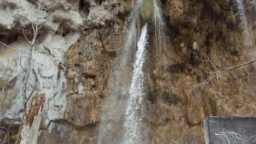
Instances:
[[[142,29],[136,28],[136,16],[142,1],[137,0],[135,8],[125,21],[126,36],[114,62],[108,81],[108,92],[99,117],[99,144],[149,143],[149,136],[143,128],[142,120],[143,101],[146,96],[144,67],[147,59],[148,25],[145,23]],[[155,1],[154,7],[156,41],[159,41],[163,19]],[[159,49],[159,44],[156,44],[156,49]]]

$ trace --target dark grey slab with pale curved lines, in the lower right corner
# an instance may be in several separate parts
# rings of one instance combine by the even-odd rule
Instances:
[[[206,144],[256,144],[256,117],[203,118]]]

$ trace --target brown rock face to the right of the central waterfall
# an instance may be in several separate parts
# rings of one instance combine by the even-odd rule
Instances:
[[[245,116],[255,109],[253,65],[195,88],[217,69],[255,59],[255,11],[245,11],[252,43],[248,46],[242,20],[231,17],[238,13],[235,1],[162,2],[172,42],[163,48],[160,70],[152,66],[149,73],[149,83],[154,83],[148,117],[152,143],[203,143],[202,117]],[[207,56],[216,68],[201,61]]]

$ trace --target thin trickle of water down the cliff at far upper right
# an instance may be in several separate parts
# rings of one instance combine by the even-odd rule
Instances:
[[[249,29],[248,29],[248,23],[246,20],[245,11],[243,10],[242,2],[241,2],[241,0],[235,0],[235,4],[236,4],[236,8],[237,8],[238,18],[242,21],[242,30],[243,30],[243,33],[245,34],[245,43],[246,43],[247,47],[251,49],[252,42],[251,42]]]

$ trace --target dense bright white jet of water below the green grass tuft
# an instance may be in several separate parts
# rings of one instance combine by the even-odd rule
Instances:
[[[134,65],[132,83],[130,88],[130,97],[127,101],[124,122],[124,143],[148,143],[147,133],[142,128],[143,107],[142,101],[144,97],[144,74],[143,64],[146,59],[147,46],[147,23],[142,27],[141,37],[139,38],[136,52],[136,61]]]

